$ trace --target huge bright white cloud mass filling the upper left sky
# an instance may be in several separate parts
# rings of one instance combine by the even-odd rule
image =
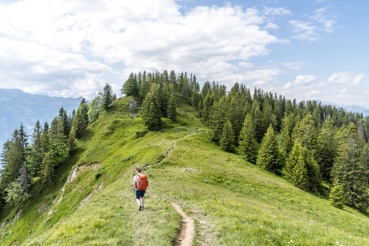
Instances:
[[[101,89],[107,73],[127,77],[132,71],[175,69],[229,86],[248,75],[240,69],[250,58],[269,54],[268,44],[288,42],[261,28],[264,15],[290,15],[286,8],[243,10],[227,3],[185,14],[179,9],[173,0],[0,4],[0,64],[6,65],[0,66],[0,83],[33,93],[72,94]]]

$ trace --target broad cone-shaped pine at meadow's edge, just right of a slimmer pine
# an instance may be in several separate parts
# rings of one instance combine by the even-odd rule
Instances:
[[[272,125],[269,126],[261,142],[259,157],[256,164],[261,168],[279,173],[281,169],[281,160],[276,136]]]

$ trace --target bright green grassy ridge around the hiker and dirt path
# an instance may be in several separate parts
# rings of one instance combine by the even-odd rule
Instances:
[[[348,207],[333,208],[326,199],[221,151],[206,134],[181,138],[194,127],[206,131],[185,101],[180,102],[179,122],[165,120],[165,131],[138,139],[135,132],[143,125],[140,118],[127,116],[128,101],[116,101],[92,124],[79,140],[77,154],[57,170],[69,174],[77,164],[100,162],[102,176],[95,179],[97,170],[82,170],[57,205],[52,201],[61,197],[65,182],[55,178],[56,188],[44,187],[13,225],[4,226],[0,245],[171,245],[180,215],[168,200],[196,219],[194,245],[368,244],[367,216]],[[162,159],[172,139],[177,139],[176,146],[168,158],[144,169],[150,187],[145,211],[138,213],[130,170]],[[186,166],[197,172],[182,172]],[[103,189],[95,194],[101,182]],[[11,222],[17,210],[3,214],[10,211]],[[56,211],[48,215],[50,210]],[[3,223],[6,218],[1,218]]]

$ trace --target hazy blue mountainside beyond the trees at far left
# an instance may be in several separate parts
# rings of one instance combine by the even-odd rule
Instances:
[[[35,122],[39,120],[42,125],[58,114],[60,107],[68,112],[79,106],[82,97],[50,97],[32,95],[18,89],[0,88],[0,143],[10,138],[11,132],[19,128],[21,122],[27,129],[27,134],[32,134]]]

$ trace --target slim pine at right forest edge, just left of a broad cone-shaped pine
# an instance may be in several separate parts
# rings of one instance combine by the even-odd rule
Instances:
[[[238,150],[246,160],[254,162],[256,159],[255,125],[251,114],[247,114],[238,138]]]

